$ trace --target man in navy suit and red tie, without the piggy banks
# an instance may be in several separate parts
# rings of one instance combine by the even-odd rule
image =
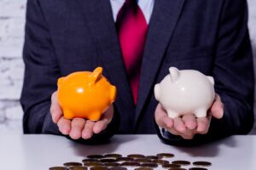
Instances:
[[[168,144],[198,144],[253,127],[253,56],[243,0],[28,0],[24,61],[24,133],[84,142],[157,133]],[[63,118],[58,77],[98,65],[118,89],[116,102],[98,122]],[[154,84],[170,66],[214,77],[216,99],[207,117],[171,119],[154,99]]]

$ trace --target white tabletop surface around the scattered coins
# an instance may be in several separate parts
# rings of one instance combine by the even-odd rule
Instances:
[[[88,155],[119,153],[156,155],[173,153],[175,160],[210,161],[211,170],[255,170],[256,136],[233,136],[212,144],[177,147],[160,142],[156,135],[116,135],[109,144],[78,144],[54,135],[2,135],[0,169],[47,170],[68,161],[82,161]],[[192,167],[192,166],[190,166]],[[187,167],[188,168],[188,167]]]

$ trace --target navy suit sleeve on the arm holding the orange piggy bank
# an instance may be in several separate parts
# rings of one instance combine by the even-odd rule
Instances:
[[[38,0],[28,0],[26,10],[26,37],[23,49],[25,77],[20,97],[24,133],[60,134],[52,121],[49,107],[51,94],[61,77],[55,47]],[[116,110],[115,110],[116,111]],[[115,115],[118,115],[115,113]],[[96,140],[108,139],[117,129],[118,116],[107,129],[96,135]]]

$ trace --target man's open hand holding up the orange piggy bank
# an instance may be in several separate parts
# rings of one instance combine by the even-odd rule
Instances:
[[[83,118],[68,120],[63,117],[61,106],[58,104],[57,93],[51,95],[50,114],[53,122],[57,123],[62,134],[69,135],[72,139],[90,139],[94,133],[104,130],[113,118],[113,105],[102,115],[101,120],[93,122]]]

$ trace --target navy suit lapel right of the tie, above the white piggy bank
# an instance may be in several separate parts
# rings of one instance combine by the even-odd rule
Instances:
[[[143,110],[150,90],[154,87],[154,78],[172,32],[175,29],[185,0],[155,0],[154,10],[148,25],[148,37],[143,54],[142,73],[139,83],[136,120]]]

